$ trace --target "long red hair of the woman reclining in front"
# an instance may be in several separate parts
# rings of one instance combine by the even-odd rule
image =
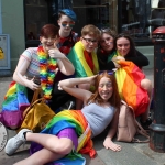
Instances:
[[[121,99],[119,96],[117,80],[116,80],[114,75],[109,75],[108,72],[103,72],[102,74],[97,76],[96,85],[95,85],[96,90],[95,90],[94,95],[91,95],[91,97],[87,100],[87,103],[89,103],[89,102],[98,102],[99,105],[103,103],[103,99],[100,97],[99,91],[98,91],[99,82],[100,82],[102,77],[108,77],[111,79],[113,92],[112,92],[112,96],[109,98],[108,101],[110,102],[111,106],[119,108]]]

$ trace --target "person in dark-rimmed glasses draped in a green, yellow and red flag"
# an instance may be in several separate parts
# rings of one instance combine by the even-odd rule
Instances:
[[[88,77],[98,73],[99,64],[96,48],[99,37],[100,30],[97,26],[88,24],[82,28],[80,41],[75,44],[67,56],[75,66],[75,77]],[[89,82],[79,85],[79,88],[91,89],[94,86]],[[77,100],[76,109],[81,109],[81,107],[82,102]]]

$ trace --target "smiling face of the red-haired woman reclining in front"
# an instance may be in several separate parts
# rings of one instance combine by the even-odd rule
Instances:
[[[112,81],[108,77],[102,77],[99,82],[98,91],[100,97],[108,101],[113,94]]]

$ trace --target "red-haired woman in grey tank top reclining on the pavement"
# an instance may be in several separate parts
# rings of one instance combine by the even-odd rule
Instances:
[[[76,88],[76,85],[96,82],[94,92]],[[120,152],[121,146],[112,139],[117,133],[120,96],[113,72],[100,72],[98,75],[70,78],[59,81],[66,92],[84,101],[81,110],[64,110],[53,117],[41,133],[24,129],[11,138],[6,153],[12,155],[24,142],[31,141],[31,156],[14,165],[22,164],[86,164],[82,155],[96,155],[91,139],[100,134],[108,125],[109,132],[103,146]]]

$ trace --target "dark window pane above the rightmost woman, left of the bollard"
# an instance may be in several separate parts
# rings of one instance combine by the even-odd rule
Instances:
[[[122,32],[133,38],[148,38],[147,20],[151,16],[151,0],[122,0]]]

